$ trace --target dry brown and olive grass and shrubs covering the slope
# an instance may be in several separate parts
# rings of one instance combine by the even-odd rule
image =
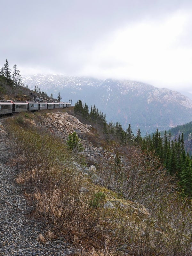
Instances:
[[[95,185],[72,164],[78,156],[60,139],[13,119],[7,134],[20,167],[17,182],[38,216],[80,248],[79,255],[190,255],[191,205],[173,191],[152,155],[127,148],[124,162],[116,162],[107,153]],[[55,237],[48,228],[38,241]]]

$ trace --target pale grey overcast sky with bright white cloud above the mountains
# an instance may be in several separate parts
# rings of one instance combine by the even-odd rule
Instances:
[[[192,92],[192,0],[2,1],[0,56],[21,76],[131,79]]]

